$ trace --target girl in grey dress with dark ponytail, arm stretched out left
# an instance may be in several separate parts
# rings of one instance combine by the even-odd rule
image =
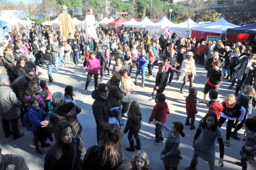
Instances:
[[[164,162],[165,170],[178,170],[178,165],[180,164],[179,159],[182,159],[180,156],[181,151],[178,149],[180,145],[180,135],[183,138],[185,137],[183,132],[183,124],[181,122],[172,122],[172,128],[169,128],[158,121],[155,121],[154,124],[158,124],[169,132],[169,135],[166,139],[165,148],[160,154],[160,159],[162,159]]]

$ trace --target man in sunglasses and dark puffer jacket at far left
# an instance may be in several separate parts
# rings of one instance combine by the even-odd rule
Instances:
[[[33,79],[34,77],[34,71],[28,69],[26,71],[26,74],[24,76],[21,76],[14,80],[11,84],[11,88],[13,92],[16,94],[18,99],[21,101],[22,105],[20,106],[20,119],[22,122],[22,126],[24,126],[23,123],[23,116],[27,112],[27,103],[25,100],[25,90],[27,89],[28,83]]]

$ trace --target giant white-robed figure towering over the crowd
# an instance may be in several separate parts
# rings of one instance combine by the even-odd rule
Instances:
[[[88,35],[90,34],[91,37],[94,36],[94,38],[97,37],[96,29],[95,29],[95,17],[92,15],[92,9],[89,9],[89,15],[86,15],[85,17],[85,40],[87,40]]]

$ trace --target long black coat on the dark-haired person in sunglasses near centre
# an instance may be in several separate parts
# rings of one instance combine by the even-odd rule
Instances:
[[[97,128],[102,129],[105,123],[108,122],[109,111],[112,108],[110,99],[108,97],[104,99],[96,92],[96,90],[92,91],[92,99],[95,100],[92,104],[92,112],[94,114]]]

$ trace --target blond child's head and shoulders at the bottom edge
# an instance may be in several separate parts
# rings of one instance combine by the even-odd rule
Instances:
[[[152,170],[149,165],[148,155],[143,150],[137,150],[135,156],[131,158],[131,170]]]

